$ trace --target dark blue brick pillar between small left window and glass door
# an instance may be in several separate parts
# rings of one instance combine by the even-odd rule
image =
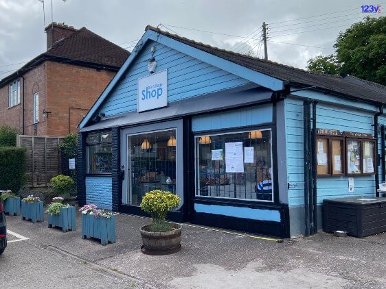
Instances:
[[[120,179],[120,129],[113,127],[112,136],[112,152],[111,158],[111,181],[112,181],[112,210],[118,212],[120,206],[120,192],[122,190],[122,181]]]

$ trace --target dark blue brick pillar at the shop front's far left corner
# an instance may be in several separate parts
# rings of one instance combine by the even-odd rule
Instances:
[[[78,133],[78,162],[77,162],[78,205],[86,204],[86,134]]]

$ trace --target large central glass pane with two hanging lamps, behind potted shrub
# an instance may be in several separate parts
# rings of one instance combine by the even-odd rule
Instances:
[[[140,205],[150,190],[176,193],[176,130],[128,136],[128,203]]]

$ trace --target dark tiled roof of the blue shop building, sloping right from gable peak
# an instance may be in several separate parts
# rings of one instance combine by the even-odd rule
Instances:
[[[168,36],[169,38],[182,42],[186,45],[190,45],[196,49],[200,49],[201,51],[216,55],[219,58],[240,64],[254,71],[270,75],[271,77],[275,77],[283,81],[289,81],[289,84],[304,87],[316,86],[316,88],[327,92],[334,92],[338,95],[345,95],[371,102],[386,103],[386,87],[381,86],[380,84],[375,84],[371,81],[365,81],[363,79],[351,77],[350,75],[341,76],[310,73],[309,71],[304,71],[292,66],[286,66],[277,62],[253,58],[248,55],[205,45],[201,42],[183,38],[176,34],[164,32],[163,30],[150,25],[146,27],[146,30],[148,29]]]

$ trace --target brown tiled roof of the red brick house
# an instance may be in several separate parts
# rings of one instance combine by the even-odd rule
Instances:
[[[92,66],[117,71],[130,55],[122,47],[82,27],[54,44],[46,52],[27,62],[18,71],[0,80],[0,87],[20,77],[45,60]]]

